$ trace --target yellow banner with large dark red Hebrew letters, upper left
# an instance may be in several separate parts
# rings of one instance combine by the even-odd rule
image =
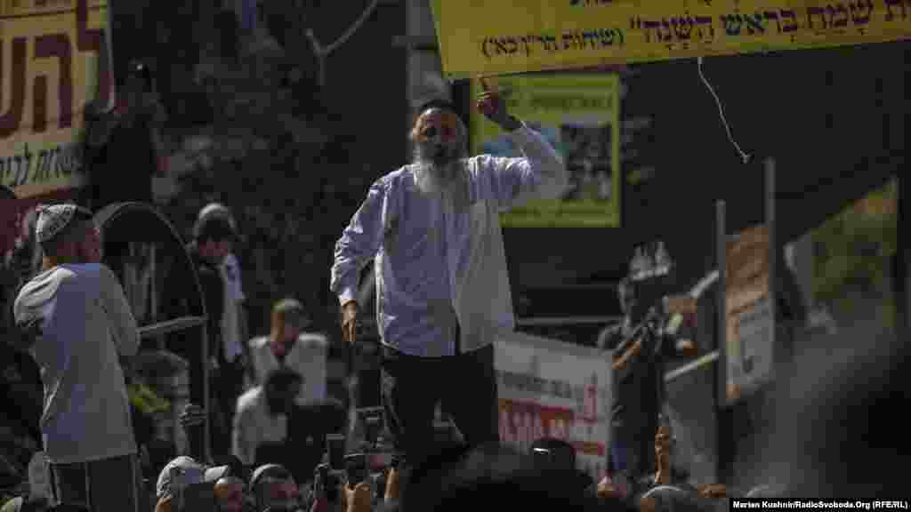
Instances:
[[[0,184],[18,198],[85,182],[86,105],[113,105],[107,6],[0,0]]]

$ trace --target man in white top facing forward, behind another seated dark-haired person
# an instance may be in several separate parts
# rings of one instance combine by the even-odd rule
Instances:
[[[303,304],[294,299],[276,302],[271,313],[271,333],[250,342],[254,383],[278,368],[290,368],[303,376],[297,404],[315,404],[326,399],[326,365],[329,340],[319,333],[303,332],[310,319]]]

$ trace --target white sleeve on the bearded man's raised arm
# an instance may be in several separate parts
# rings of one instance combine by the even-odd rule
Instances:
[[[548,141],[525,124],[510,133],[523,157],[477,157],[472,186],[479,200],[508,210],[527,200],[556,200],[568,185],[568,172]]]

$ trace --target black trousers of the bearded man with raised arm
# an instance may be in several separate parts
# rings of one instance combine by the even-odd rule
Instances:
[[[434,453],[437,403],[466,445],[499,440],[494,347],[446,357],[418,357],[383,347],[382,395],[396,456],[409,466]]]

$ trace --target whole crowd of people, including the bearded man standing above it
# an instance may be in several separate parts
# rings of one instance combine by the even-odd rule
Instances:
[[[11,338],[40,368],[38,425],[50,493],[12,500],[4,512],[462,510],[497,499],[513,507],[645,512],[719,506],[729,491],[688,484],[674,466],[670,425],[660,422],[663,358],[693,347],[664,330],[649,342],[631,340],[639,332],[629,282],[619,287],[628,322],[599,342],[617,353],[625,401],[609,476],[595,482],[581,474],[566,441],[538,439],[530,454],[499,444],[493,342],[514,329],[515,318],[498,213],[558,198],[568,172],[496,91],[485,87],[477,108],[522,157],[468,157],[458,110],[428,103],[411,132],[414,161],[374,182],[335,246],[331,288],[347,343],[358,342],[358,277],[374,262],[388,464],[373,456],[386,450],[370,439],[375,432],[366,441],[353,435],[345,405],[327,396],[328,341],[306,333],[301,302],[276,302],[268,335],[246,332],[236,225],[217,204],[200,211],[187,247],[208,315],[210,357],[170,347],[191,368],[192,404],[181,415],[189,451],[143,460],[128,398],[138,326],[123,286],[101,262],[93,213],[63,203],[38,211],[42,266],[17,293]],[[210,396],[201,391],[207,384]],[[639,394],[623,391],[630,388]],[[208,410],[200,407],[206,403]],[[436,432],[437,404],[457,435]],[[339,435],[341,454],[331,448]]]

